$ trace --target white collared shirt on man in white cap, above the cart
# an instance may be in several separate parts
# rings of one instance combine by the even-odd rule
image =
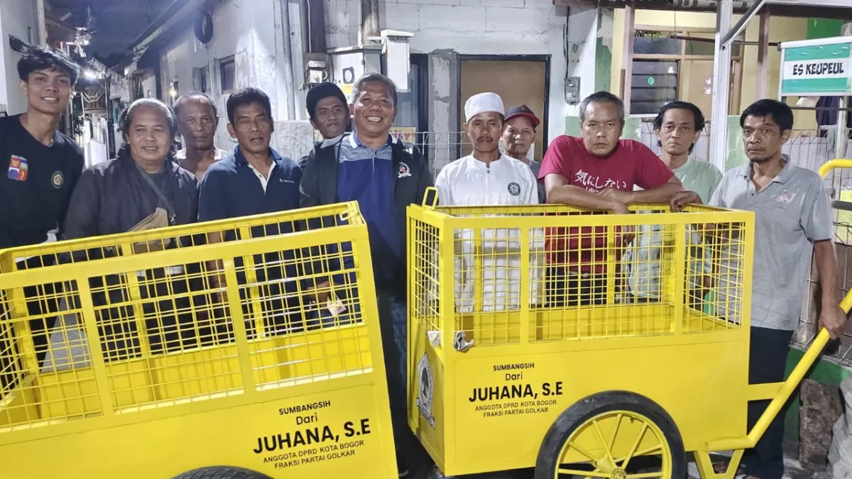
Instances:
[[[450,205],[537,205],[536,177],[521,160],[501,155],[486,164],[468,155],[447,164],[435,178],[438,202]]]

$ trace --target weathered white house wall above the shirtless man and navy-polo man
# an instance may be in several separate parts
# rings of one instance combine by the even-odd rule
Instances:
[[[236,66],[235,88],[256,87],[269,95],[273,118],[290,120],[285,88],[285,40],[282,37],[282,0],[228,0],[213,11],[213,38],[200,43],[192,30],[176,38],[164,49],[160,59],[163,95],[169,84],[178,82],[177,94],[200,89],[199,68],[208,69],[208,93],[217,101],[219,129],[217,145],[233,148],[227,134],[227,94],[220,84],[220,61],[233,56]],[[171,101],[173,98],[163,98]]]

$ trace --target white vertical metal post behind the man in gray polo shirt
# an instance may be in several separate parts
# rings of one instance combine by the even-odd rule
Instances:
[[[711,112],[710,163],[725,171],[728,149],[728,94],[731,82],[731,50],[722,45],[730,31],[733,0],[719,0],[716,14],[716,43],[713,55],[713,99]]]

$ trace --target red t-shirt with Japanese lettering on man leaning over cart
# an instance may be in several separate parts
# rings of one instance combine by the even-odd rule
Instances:
[[[586,149],[582,138],[564,135],[557,136],[544,153],[538,181],[544,182],[553,173],[564,177],[566,184],[591,193],[604,188],[632,191],[636,185],[644,189],[659,188],[673,175],[650,148],[638,141],[620,140],[607,156],[596,157]],[[620,234],[616,238],[619,247]],[[606,243],[607,232],[603,227],[548,228],[545,232],[548,263],[583,273],[606,272]]]

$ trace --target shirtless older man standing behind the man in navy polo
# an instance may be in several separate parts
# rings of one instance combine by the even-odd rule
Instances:
[[[190,91],[178,97],[172,108],[177,116],[178,130],[186,143],[186,147],[175,153],[175,159],[181,168],[195,175],[200,182],[210,164],[227,156],[225,150],[216,147],[216,127],[219,125],[216,102],[206,93]]]

